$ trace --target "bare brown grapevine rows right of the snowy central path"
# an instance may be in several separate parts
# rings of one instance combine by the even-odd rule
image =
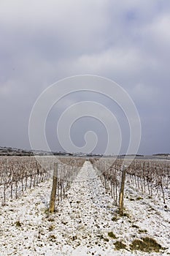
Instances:
[[[163,197],[166,203],[165,190],[169,189],[170,162],[169,160],[144,160],[134,159],[129,165],[126,159],[91,159],[93,167],[98,172],[105,189],[118,203],[121,169],[123,164],[127,166],[125,182],[148,195]]]

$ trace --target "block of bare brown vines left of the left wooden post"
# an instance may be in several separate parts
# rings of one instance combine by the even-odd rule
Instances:
[[[18,198],[51,176],[53,159],[49,157],[0,157],[0,199]]]

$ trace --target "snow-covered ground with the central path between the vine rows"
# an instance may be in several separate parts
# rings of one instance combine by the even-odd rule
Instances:
[[[52,180],[0,208],[0,255],[170,255],[170,195],[160,198],[125,185],[125,215],[85,162],[67,197],[48,216]],[[112,234],[110,237],[109,234]],[[136,238],[155,238],[164,250],[131,251]],[[116,249],[122,241],[126,249]]]

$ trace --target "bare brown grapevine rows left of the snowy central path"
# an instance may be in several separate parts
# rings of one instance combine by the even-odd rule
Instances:
[[[53,176],[55,157],[0,157],[0,202],[18,198],[26,189]],[[66,195],[85,159],[60,157],[58,165],[58,201]]]

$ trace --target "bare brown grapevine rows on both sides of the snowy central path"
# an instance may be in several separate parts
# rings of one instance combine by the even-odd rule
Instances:
[[[38,161],[37,161],[38,159]],[[118,203],[121,166],[123,159],[90,158],[90,162],[96,169],[105,189]],[[5,203],[9,198],[18,198],[26,189],[35,187],[42,181],[53,176],[55,157],[0,157],[0,200]],[[85,158],[59,157],[57,202],[66,196],[66,191],[79,173],[85,162]],[[125,160],[125,183],[150,195],[163,197],[166,203],[165,191],[169,189],[170,162],[169,160],[144,160],[134,159],[128,165]]]

